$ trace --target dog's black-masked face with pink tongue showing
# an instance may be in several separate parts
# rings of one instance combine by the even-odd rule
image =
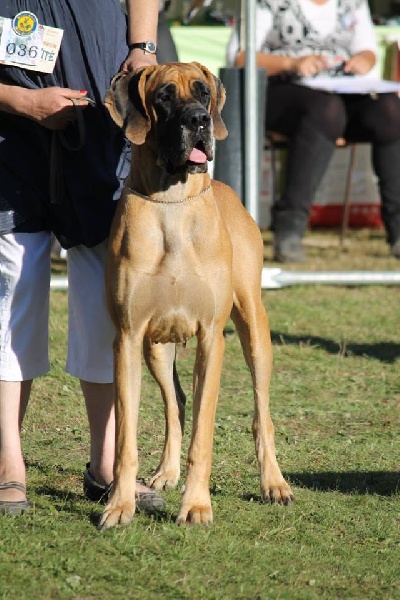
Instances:
[[[155,91],[152,103],[157,115],[159,158],[169,173],[204,173],[213,160],[212,120],[209,112],[211,92],[201,80],[191,84],[193,97],[179,97],[175,83]]]

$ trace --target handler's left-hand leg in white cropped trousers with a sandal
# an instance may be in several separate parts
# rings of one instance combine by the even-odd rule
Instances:
[[[0,485],[26,483],[20,429],[47,354],[50,234],[0,236]],[[0,513],[28,508],[18,487],[0,490]],[[13,506],[12,502],[20,503]],[[21,504],[22,503],[22,504]],[[18,510],[17,510],[18,509]]]

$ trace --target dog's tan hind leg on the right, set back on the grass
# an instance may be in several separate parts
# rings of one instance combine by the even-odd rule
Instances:
[[[254,292],[252,294],[251,287]],[[269,410],[272,344],[268,317],[261,301],[258,282],[256,286],[247,282],[239,290],[236,287],[235,292],[231,316],[253,380],[253,437],[260,468],[261,497],[264,501],[289,504],[293,494],[276,460],[275,432]]]

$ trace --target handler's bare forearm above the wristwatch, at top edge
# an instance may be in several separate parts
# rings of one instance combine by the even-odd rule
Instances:
[[[128,44],[157,40],[159,0],[126,0]]]

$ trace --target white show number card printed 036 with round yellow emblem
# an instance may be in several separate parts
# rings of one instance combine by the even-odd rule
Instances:
[[[52,73],[64,31],[39,23],[23,11],[13,19],[0,17],[0,64]]]

